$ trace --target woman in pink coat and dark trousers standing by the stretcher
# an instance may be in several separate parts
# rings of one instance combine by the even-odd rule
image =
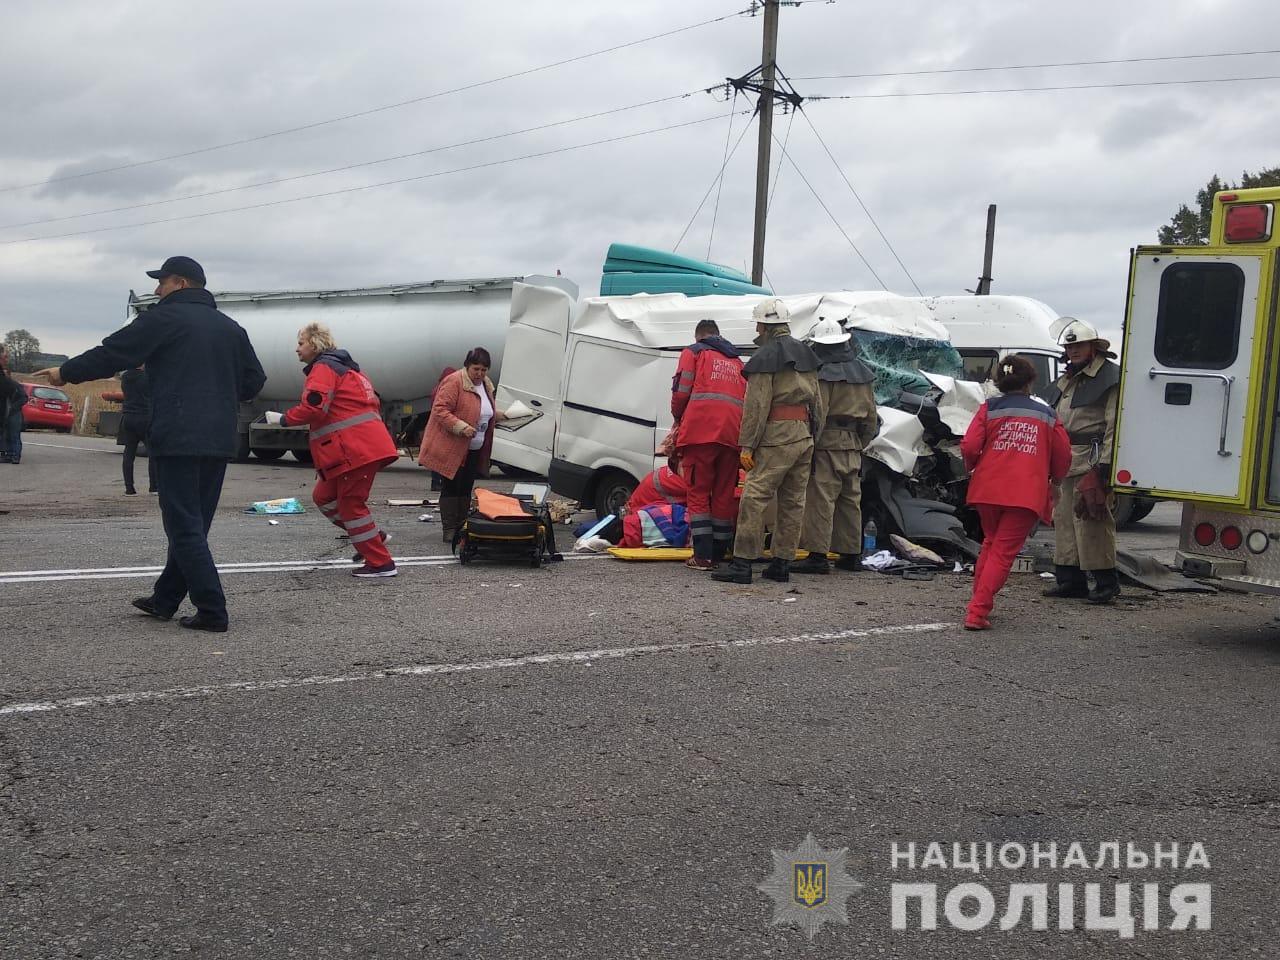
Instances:
[[[506,419],[493,402],[489,366],[489,351],[484,347],[467,353],[462,370],[449,374],[435,388],[431,416],[422,433],[417,462],[444,477],[440,486],[444,543],[452,543],[453,532],[462,525],[475,481],[489,475],[493,425]]]

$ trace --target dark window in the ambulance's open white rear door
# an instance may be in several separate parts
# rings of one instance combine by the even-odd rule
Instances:
[[[1240,343],[1244,273],[1235,264],[1174,264],[1160,278],[1156,360],[1225,370]]]

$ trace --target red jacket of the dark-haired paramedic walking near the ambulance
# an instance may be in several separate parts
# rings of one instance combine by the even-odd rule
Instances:
[[[1057,413],[1034,397],[1010,393],[978,407],[960,442],[969,503],[1021,507],[1046,524],[1053,515],[1050,480],[1071,466],[1071,440]]]

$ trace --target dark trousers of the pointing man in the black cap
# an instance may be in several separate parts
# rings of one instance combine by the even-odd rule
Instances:
[[[223,493],[227,461],[214,457],[151,457],[160,488],[160,516],[169,539],[169,557],[152,589],[156,609],[173,614],[188,594],[197,611],[227,620],[227,598],[209,527]]]

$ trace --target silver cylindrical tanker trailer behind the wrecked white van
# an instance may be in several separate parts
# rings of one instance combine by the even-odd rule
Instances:
[[[383,401],[383,420],[397,444],[421,433],[431,408],[431,390],[447,367],[458,367],[472,347],[493,356],[498,379],[511,314],[512,284],[521,276],[433,280],[389,287],[324,291],[214,291],[218,307],[248,333],[266,371],[257,399],[241,406],[238,456],[279,460],[285,452],[308,462],[306,426],[268,424],[268,410],[288,410],[302,396],[302,365],[294,355],[297,332],[310,323],[333,330]],[[558,276],[529,278],[577,288]],[[129,292],[128,320],[156,302]]]

